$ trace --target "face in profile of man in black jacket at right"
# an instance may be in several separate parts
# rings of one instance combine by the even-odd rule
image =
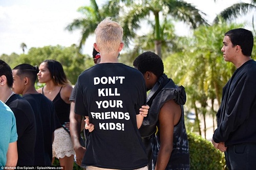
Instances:
[[[228,36],[225,36],[223,39],[223,47],[221,51],[223,52],[223,58],[225,61],[233,63],[233,60],[236,56],[236,46],[232,46],[232,42]]]

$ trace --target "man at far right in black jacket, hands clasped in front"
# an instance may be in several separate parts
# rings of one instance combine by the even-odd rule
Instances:
[[[256,169],[256,62],[251,59],[253,35],[246,29],[225,33],[223,57],[236,66],[223,87],[212,144],[225,152],[228,169]]]

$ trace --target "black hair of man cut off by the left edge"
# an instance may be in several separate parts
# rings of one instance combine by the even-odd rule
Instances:
[[[13,85],[12,69],[11,67],[3,60],[0,60],[0,76],[5,76],[7,80],[8,87]]]

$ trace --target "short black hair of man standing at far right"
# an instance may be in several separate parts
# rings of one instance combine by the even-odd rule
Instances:
[[[250,57],[253,47],[252,32],[243,28],[229,30],[225,33],[232,42],[232,46],[240,45],[243,55]]]

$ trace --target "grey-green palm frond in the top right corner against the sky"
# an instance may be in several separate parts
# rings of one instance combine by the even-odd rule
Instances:
[[[256,0],[251,0],[251,3],[237,3],[233,4],[230,7],[224,9],[216,16],[214,23],[218,23],[220,18],[225,21],[231,21],[236,19],[238,16],[247,14],[249,11],[256,10]],[[252,19],[253,20],[253,19]]]

